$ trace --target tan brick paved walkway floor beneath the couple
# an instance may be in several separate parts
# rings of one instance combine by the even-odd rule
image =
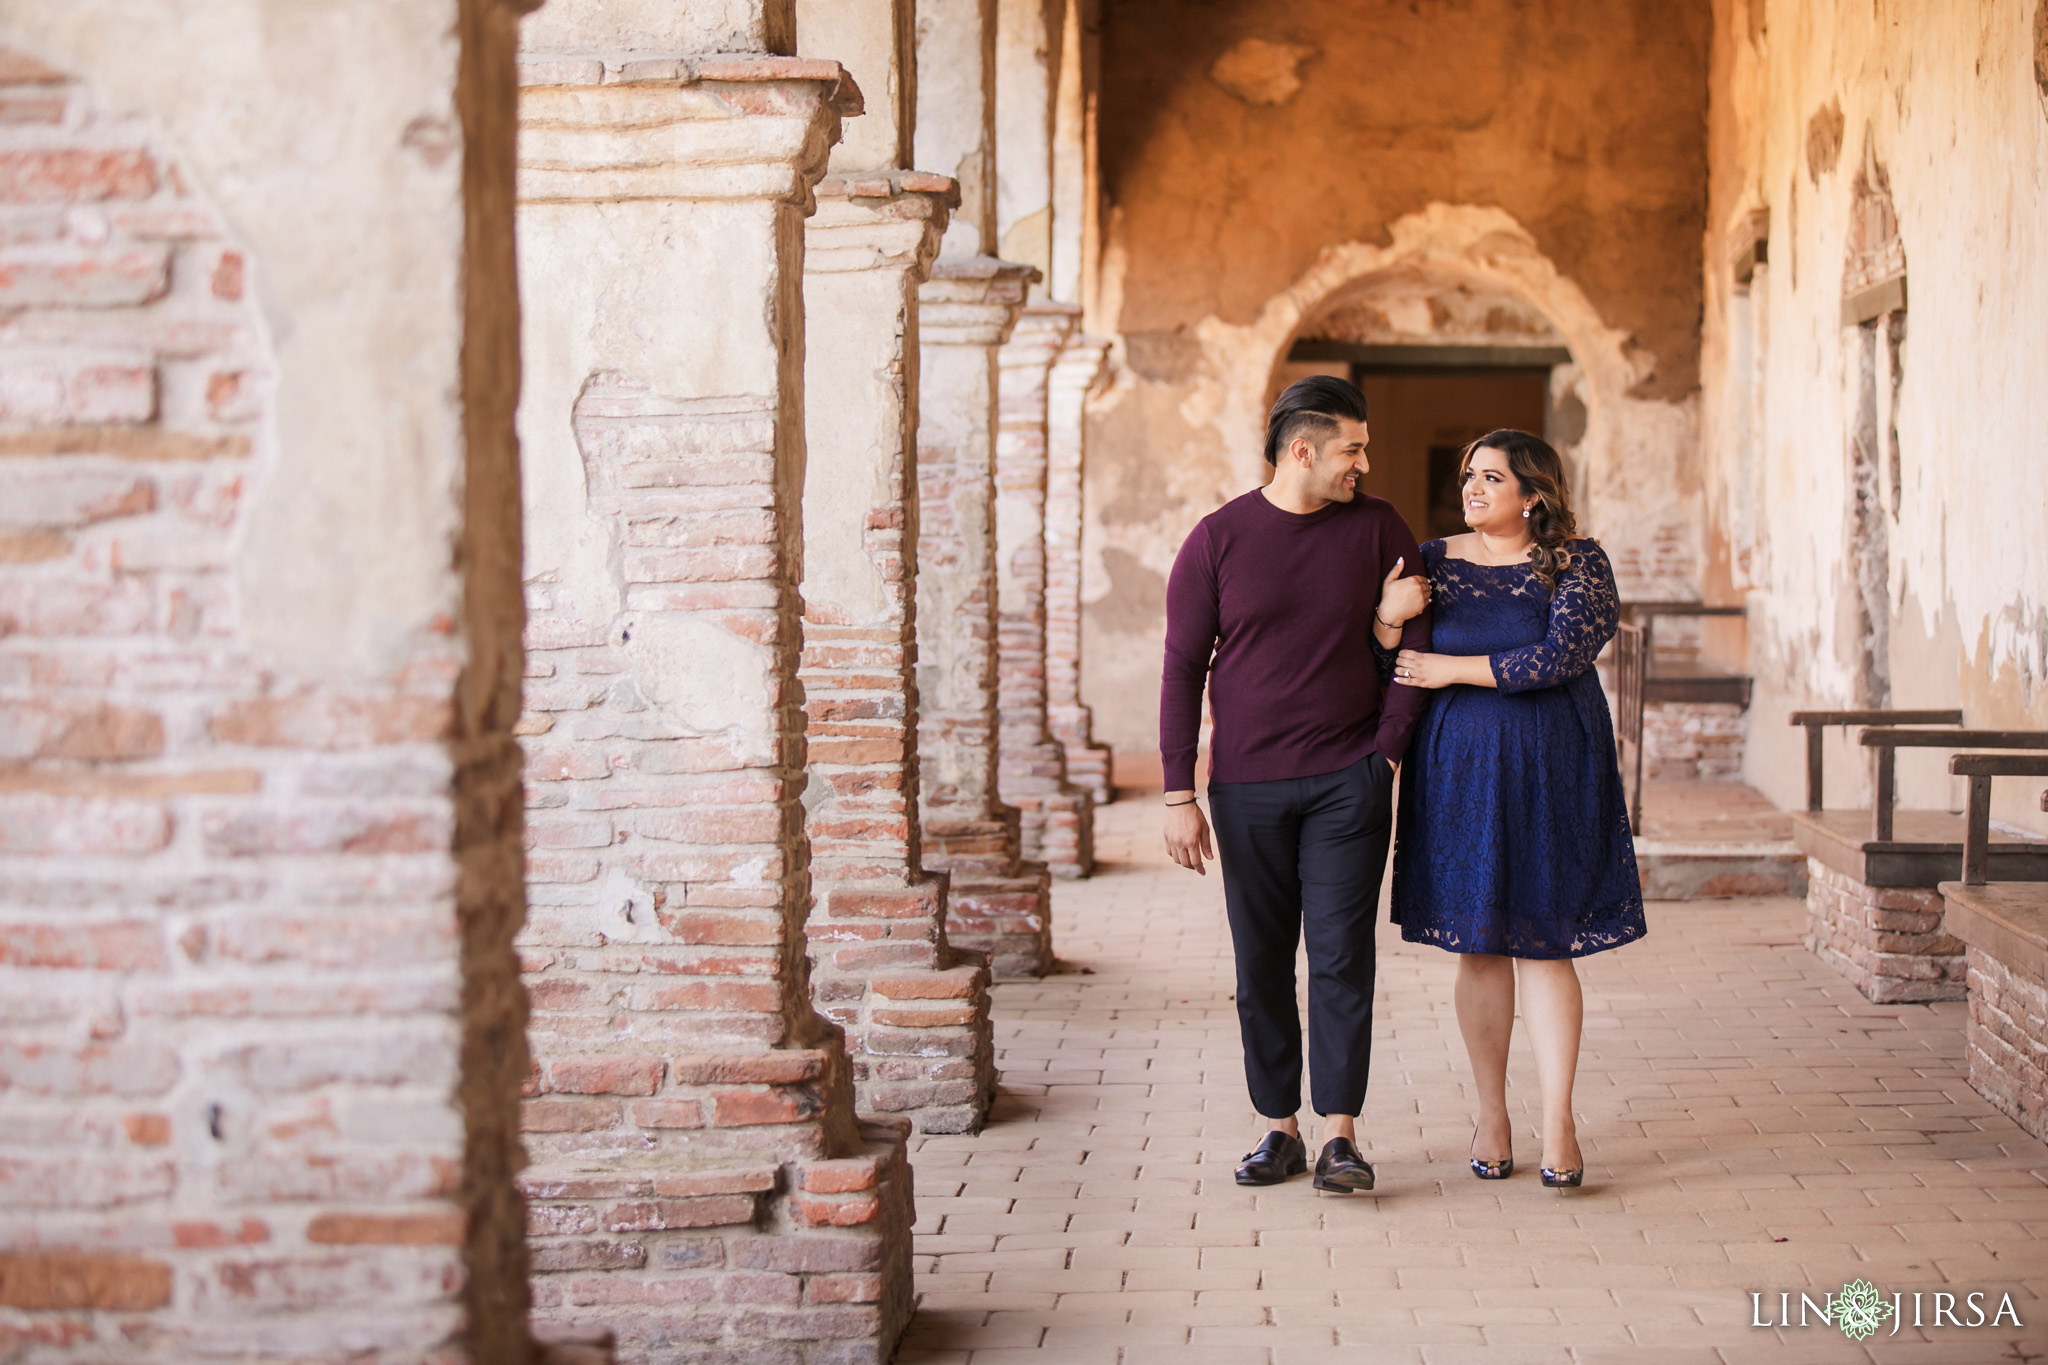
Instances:
[[[1157,853],[1157,804],[1098,814],[1104,870],[1059,884],[1075,970],[995,990],[1001,1099],[918,1144],[920,1316],[901,1365],[1341,1361],[2040,1361],[2048,1148],[1964,1081],[1962,1005],[1870,1005],[1798,945],[1796,900],[1651,907],[1583,964],[1589,1187],[1481,1183],[1452,960],[1380,931],[1362,1144],[1378,1193],[1247,1191],[1223,894]],[[1751,1328],[1749,1291],[1819,1302],[2013,1293],[2023,1328],[1868,1347]],[[1964,1318],[1968,1320],[1968,1318]],[[1884,1330],[1888,1330],[1886,1324]]]

